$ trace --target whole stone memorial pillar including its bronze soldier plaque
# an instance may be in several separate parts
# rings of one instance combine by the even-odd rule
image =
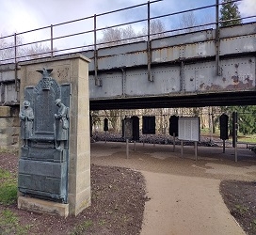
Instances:
[[[67,217],[90,205],[88,62],[21,64],[18,207]]]

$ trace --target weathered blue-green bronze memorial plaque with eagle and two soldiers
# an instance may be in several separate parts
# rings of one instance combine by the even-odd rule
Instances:
[[[39,71],[39,84],[24,90],[18,188],[24,196],[66,203],[71,85],[58,85],[52,71]]]

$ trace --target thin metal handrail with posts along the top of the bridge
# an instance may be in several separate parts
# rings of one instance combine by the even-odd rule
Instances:
[[[130,24],[138,24],[138,23],[143,23],[143,22],[145,22],[145,23],[148,22],[148,27],[149,27],[151,22],[154,21],[154,20],[157,20],[157,19],[162,19],[162,18],[165,18],[165,17],[184,14],[184,13],[187,13],[187,12],[201,10],[201,9],[205,9],[205,8],[216,8],[216,7],[225,5],[225,3],[218,3],[218,0],[216,0],[216,4],[214,4],[214,5],[203,6],[203,7],[200,7],[200,8],[191,8],[191,9],[187,9],[187,10],[172,12],[172,13],[169,13],[169,14],[163,14],[163,15],[158,15],[158,16],[153,16],[153,17],[151,17],[150,14],[148,13],[148,18],[145,18],[145,19],[126,22],[126,23],[123,23],[123,24],[113,24],[113,25],[106,26],[106,27],[101,27],[101,28],[96,27],[97,19],[99,19],[102,16],[117,13],[117,12],[120,12],[120,11],[125,11],[127,9],[140,8],[140,7],[143,7],[143,6],[148,7],[148,10],[149,10],[150,6],[152,4],[159,3],[159,2],[162,2],[162,1],[165,1],[165,0],[154,0],[152,2],[149,1],[149,2],[144,3],[144,4],[138,4],[138,5],[127,7],[127,8],[119,8],[119,9],[116,9],[116,10],[111,10],[111,11],[108,11],[108,12],[95,14],[93,16],[88,16],[88,17],[72,20],[72,21],[69,21],[69,22],[64,22],[64,23],[60,23],[60,24],[51,24],[51,25],[48,25],[48,26],[44,26],[44,27],[40,27],[40,28],[36,28],[36,29],[32,29],[32,30],[27,30],[27,31],[20,32],[20,33],[15,33],[13,35],[0,37],[0,39],[14,38],[13,39],[14,45],[11,45],[11,46],[8,45],[7,47],[0,48],[0,52],[5,51],[5,50],[11,50],[11,49],[15,50],[15,55],[12,55],[8,58],[1,58],[0,62],[5,62],[6,61],[8,63],[9,61],[13,61],[13,60],[15,62],[19,62],[18,59],[29,57],[29,56],[35,56],[35,55],[18,55],[17,49],[22,48],[24,46],[28,46],[28,45],[33,45],[33,44],[36,44],[36,43],[43,43],[43,42],[50,42],[51,43],[51,47],[49,48],[49,51],[41,52],[41,53],[38,53],[37,55],[49,55],[49,54],[51,54],[52,56],[54,56],[54,53],[59,53],[59,52],[71,51],[71,50],[76,50],[76,49],[78,50],[78,49],[85,48],[85,47],[90,47],[90,46],[94,46],[94,50],[97,50],[97,48],[99,46],[103,46],[104,44],[110,44],[110,43],[113,43],[113,42],[120,42],[120,41],[125,41],[125,40],[128,40],[128,39],[129,40],[146,39],[146,37],[149,40],[154,35],[159,35],[159,34],[165,35],[165,34],[168,34],[168,33],[171,33],[171,32],[178,32],[178,31],[181,31],[181,30],[188,30],[188,29],[193,29],[193,28],[199,28],[199,27],[202,27],[202,26],[216,25],[216,24],[220,24],[220,23],[224,23],[224,22],[232,22],[234,20],[238,20],[238,19],[232,19],[232,20],[227,20],[227,21],[219,21],[218,20],[217,22],[213,22],[213,23],[209,23],[209,24],[200,24],[200,25],[195,25],[195,26],[191,26],[191,27],[176,28],[176,29],[171,29],[171,30],[165,30],[163,32],[158,32],[158,33],[151,33],[151,31],[148,28],[148,33],[146,35],[139,35],[139,36],[131,37],[131,38],[128,38],[128,39],[119,39],[119,40],[115,40],[115,41],[102,42],[102,41],[97,40],[97,32],[100,32],[100,31],[103,31],[103,30],[106,30],[106,29],[121,27],[121,26],[125,26],[125,25],[130,25]],[[232,0],[231,2],[235,3],[235,2],[240,2],[240,1],[242,1],[242,0]],[[255,18],[255,17],[256,16],[247,16],[247,17],[239,18],[239,20],[252,19],[252,18]],[[54,37],[54,30],[57,26],[72,24],[72,23],[81,22],[81,21],[85,21],[85,20],[93,20],[93,19],[94,19],[94,24],[95,24],[93,29],[90,29],[88,31],[77,32],[77,33],[74,33],[74,34],[67,34],[67,35],[61,35],[61,36],[58,36],[58,37]],[[51,30],[50,38],[25,42],[25,43],[22,43],[22,44],[17,44],[17,36],[22,36],[22,35],[27,34],[27,33],[36,32],[36,31],[45,30],[45,29],[50,29]],[[56,41],[57,39],[71,38],[71,37],[75,37],[75,36],[79,36],[79,35],[86,35],[86,34],[89,34],[89,33],[94,33],[94,43],[93,44],[69,47],[69,48],[65,48],[65,49],[56,49],[56,48],[54,48],[54,41]]]

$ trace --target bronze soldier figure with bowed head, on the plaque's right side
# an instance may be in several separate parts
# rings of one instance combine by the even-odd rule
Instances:
[[[58,106],[57,114],[55,114],[55,138],[56,138],[56,149],[63,148],[63,141],[68,140],[69,130],[69,119],[68,112],[69,108],[66,107],[60,99],[56,99],[56,106]]]

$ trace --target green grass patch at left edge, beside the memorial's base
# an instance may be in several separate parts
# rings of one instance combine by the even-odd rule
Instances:
[[[7,170],[0,169],[0,204],[10,205],[17,200],[17,180]]]

